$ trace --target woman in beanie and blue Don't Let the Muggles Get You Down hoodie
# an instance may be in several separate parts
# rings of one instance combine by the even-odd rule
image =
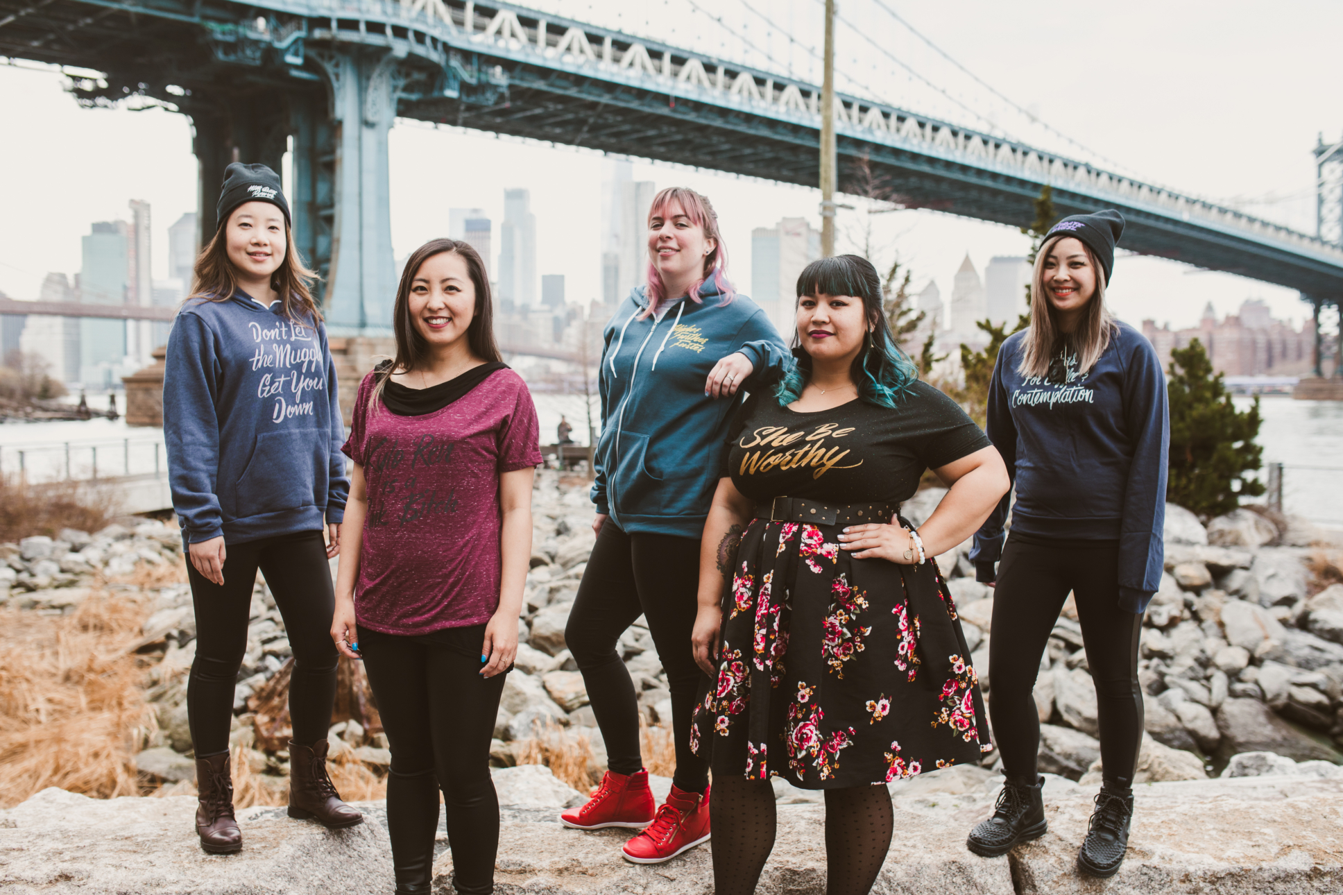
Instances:
[[[164,438],[196,610],[187,684],[196,832],[207,852],[228,853],[242,848],[228,731],[258,567],[294,654],[289,816],[328,828],[364,817],[326,774],[338,661],[328,559],[349,493],[336,367],[275,172],[228,165],[218,218],[168,337]]]

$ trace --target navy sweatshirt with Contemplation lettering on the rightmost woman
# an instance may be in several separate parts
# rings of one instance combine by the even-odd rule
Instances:
[[[1170,411],[1166,378],[1147,337],[1117,324],[1086,374],[1069,352],[1068,382],[1022,376],[1030,331],[998,352],[984,427],[1017,486],[1011,528],[1022,535],[1119,542],[1119,605],[1146,611],[1160,586]],[[994,581],[1007,493],[975,535],[970,559]]]

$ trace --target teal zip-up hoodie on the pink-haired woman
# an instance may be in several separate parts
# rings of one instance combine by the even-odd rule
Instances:
[[[645,286],[630,292],[603,331],[602,435],[592,503],[626,532],[700,538],[719,484],[728,423],[748,388],[782,378],[792,356],[760,306],[743,294],[723,304],[706,282],[662,320],[639,318]],[[735,398],[708,398],[720,359],[740,351],[755,371]]]

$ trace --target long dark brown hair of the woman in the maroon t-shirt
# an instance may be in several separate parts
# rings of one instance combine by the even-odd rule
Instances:
[[[485,273],[485,262],[481,261],[481,255],[470,243],[459,239],[430,239],[406,259],[402,282],[396,286],[396,304],[392,306],[396,356],[379,372],[373,386],[372,403],[375,407],[393,372],[411,372],[423,364],[428,355],[428,343],[415,328],[415,321],[411,320],[411,284],[426,261],[445,253],[462,257],[471,285],[475,288],[475,312],[471,316],[471,324],[466,328],[466,343],[471,347],[471,353],[486,363],[504,360],[498,343],[494,341],[494,301],[490,298],[490,280]]]

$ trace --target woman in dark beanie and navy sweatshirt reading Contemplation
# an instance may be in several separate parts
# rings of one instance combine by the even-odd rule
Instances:
[[[1039,249],[1030,328],[1003,343],[988,386],[988,438],[1017,488],[1011,534],[1003,546],[1009,496],[971,552],[979,581],[997,581],[988,712],[1007,779],[967,844],[995,856],[1045,833],[1031,691],[1072,591],[1100,715],[1104,782],[1077,859],[1096,876],[1113,875],[1128,844],[1143,738],[1138,638],[1162,577],[1170,443],[1156,352],[1105,308],[1123,230],[1116,211],[1074,215]]]

